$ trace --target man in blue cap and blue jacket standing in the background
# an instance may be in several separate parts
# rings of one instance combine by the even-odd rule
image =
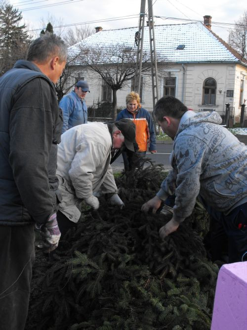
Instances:
[[[62,133],[74,126],[87,123],[87,107],[84,101],[87,92],[90,93],[87,82],[79,80],[75,85],[75,90],[65,95],[59,102],[63,110]]]

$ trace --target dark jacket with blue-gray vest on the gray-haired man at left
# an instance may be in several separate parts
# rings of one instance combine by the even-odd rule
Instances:
[[[54,84],[17,61],[0,78],[0,225],[41,224],[56,211],[61,129]]]

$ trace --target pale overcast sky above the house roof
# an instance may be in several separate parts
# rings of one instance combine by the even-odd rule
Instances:
[[[40,29],[41,18],[46,22],[49,16],[56,19],[55,25],[90,22],[90,27],[101,26],[106,30],[137,27],[141,0],[10,0],[10,3],[22,11],[30,30]],[[153,14],[160,16],[155,17],[155,24],[187,22],[166,17],[203,21],[204,15],[210,15],[212,31],[225,41],[233,26],[218,23],[235,23],[246,9],[246,0],[153,0]]]

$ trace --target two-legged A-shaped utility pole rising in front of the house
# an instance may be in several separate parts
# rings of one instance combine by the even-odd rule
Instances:
[[[134,89],[138,94],[140,94],[140,86],[141,86],[142,52],[143,52],[143,39],[144,39],[144,26],[145,26],[145,4],[146,4],[146,0],[141,0],[139,30],[135,34],[137,54],[136,54]],[[158,69],[157,69],[157,57],[156,57],[156,47],[155,47],[154,15],[153,15],[152,0],[148,0],[148,26],[149,26],[149,42],[150,42],[150,56],[151,56],[153,108],[154,108],[155,103],[159,98],[159,93],[158,93]]]

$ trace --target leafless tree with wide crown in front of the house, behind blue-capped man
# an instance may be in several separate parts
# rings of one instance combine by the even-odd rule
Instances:
[[[117,117],[117,91],[135,76],[136,49],[126,47],[123,44],[109,46],[97,46],[84,48],[78,45],[77,60],[94,72],[97,72],[104,82],[112,89],[113,113],[112,118]],[[165,62],[165,56],[158,56],[159,62]],[[150,54],[143,52],[142,75],[150,74]]]

